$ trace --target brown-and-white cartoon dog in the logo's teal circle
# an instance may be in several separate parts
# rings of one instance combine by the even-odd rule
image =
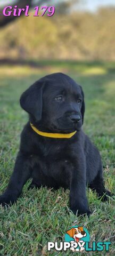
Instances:
[[[85,250],[84,246],[80,247],[80,250],[72,246],[72,243],[84,243],[84,241],[81,239],[86,236],[86,232],[84,231],[83,227],[78,226],[77,228],[71,228],[67,231],[67,234],[74,239],[74,241],[71,241],[71,247],[70,250],[75,252],[75,251],[80,251],[83,252]],[[84,243],[85,244],[85,243]]]

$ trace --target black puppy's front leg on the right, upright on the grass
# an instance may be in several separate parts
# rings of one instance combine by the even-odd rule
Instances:
[[[70,182],[70,210],[78,215],[91,214],[86,197],[86,168],[84,161],[78,161]]]

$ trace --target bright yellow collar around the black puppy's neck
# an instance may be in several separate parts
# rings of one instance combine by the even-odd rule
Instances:
[[[41,132],[39,131],[32,123],[30,123],[31,128],[39,135],[48,137],[48,138],[61,138],[61,139],[69,139],[71,138],[77,131],[71,133],[50,133],[50,132]]]

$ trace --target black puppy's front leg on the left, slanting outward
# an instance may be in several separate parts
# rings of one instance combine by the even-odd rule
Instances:
[[[7,186],[3,195],[0,196],[0,204],[2,204],[2,206],[7,204],[11,205],[17,200],[21,194],[24,183],[26,183],[26,181],[30,178],[30,174],[30,158],[19,153],[15,162],[14,171],[9,181],[9,185]]]

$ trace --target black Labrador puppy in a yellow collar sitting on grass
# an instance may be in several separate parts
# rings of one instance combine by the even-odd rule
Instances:
[[[21,133],[14,171],[0,204],[13,204],[32,178],[32,186],[69,188],[72,212],[89,215],[86,185],[104,201],[111,193],[104,187],[100,154],[81,130],[83,90],[69,76],[56,73],[31,85],[20,104],[29,113],[29,122]]]

